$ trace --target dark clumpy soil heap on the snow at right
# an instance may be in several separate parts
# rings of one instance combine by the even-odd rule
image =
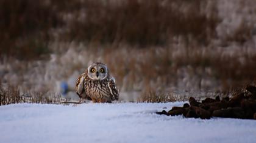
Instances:
[[[246,88],[237,92],[230,99],[206,98],[196,101],[193,97],[183,107],[172,107],[168,112],[157,112],[159,115],[176,116],[183,115],[185,118],[210,119],[212,117],[256,119],[256,87],[247,85]]]

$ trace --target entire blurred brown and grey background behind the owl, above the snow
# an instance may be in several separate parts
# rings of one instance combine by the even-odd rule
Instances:
[[[0,83],[77,100],[104,62],[121,101],[214,96],[256,78],[255,0],[1,0]]]

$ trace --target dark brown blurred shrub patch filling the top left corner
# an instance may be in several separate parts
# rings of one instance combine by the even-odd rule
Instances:
[[[48,30],[61,23],[54,7],[44,1],[1,1],[0,17],[0,53],[19,59],[49,53]]]

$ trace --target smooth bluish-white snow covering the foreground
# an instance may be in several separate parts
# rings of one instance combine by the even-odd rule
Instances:
[[[0,142],[256,142],[254,120],[155,114],[182,104],[4,105]]]

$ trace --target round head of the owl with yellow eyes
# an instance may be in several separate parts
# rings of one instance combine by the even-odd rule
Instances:
[[[101,62],[90,64],[88,67],[87,75],[93,80],[103,80],[108,76],[107,65]]]

